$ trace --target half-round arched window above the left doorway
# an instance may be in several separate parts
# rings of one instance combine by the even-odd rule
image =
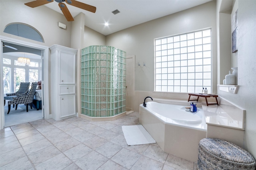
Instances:
[[[44,43],[39,31],[24,23],[10,23],[5,27],[4,32]]]

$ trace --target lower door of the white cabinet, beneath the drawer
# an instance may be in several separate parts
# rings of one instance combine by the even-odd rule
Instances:
[[[76,114],[75,95],[60,96],[60,118]]]

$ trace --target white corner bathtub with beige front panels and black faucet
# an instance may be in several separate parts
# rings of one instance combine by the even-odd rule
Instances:
[[[161,149],[196,162],[199,141],[206,137],[207,130],[202,109],[197,107],[197,112],[185,111],[185,107],[190,106],[188,102],[183,105],[157,102],[146,104],[146,107],[140,105],[140,123]]]

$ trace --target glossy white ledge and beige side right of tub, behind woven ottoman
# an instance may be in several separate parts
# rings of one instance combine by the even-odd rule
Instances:
[[[220,138],[244,147],[245,110],[219,96],[220,106],[202,105],[207,137]]]

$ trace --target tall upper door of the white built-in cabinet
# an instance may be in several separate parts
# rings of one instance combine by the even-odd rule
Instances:
[[[75,84],[76,54],[60,51],[59,57],[59,83]]]

